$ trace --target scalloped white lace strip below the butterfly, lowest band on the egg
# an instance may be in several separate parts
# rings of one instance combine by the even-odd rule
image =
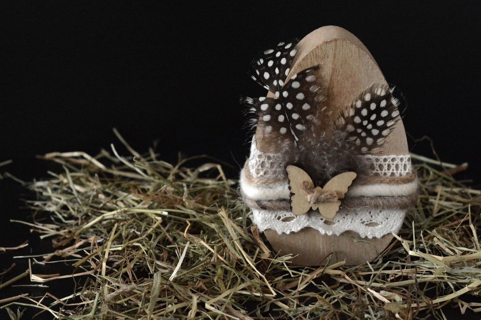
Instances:
[[[362,238],[381,238],[397,233],[403,224],[406,210],[384,209],[341,209],[333,219],[326,219],[318,211],[296,216],[290,211],[268,211],[252,209],[252,220],[259,230],[275,230],[278,234],[298,232],[312,227],[323,235],[339,236],[353,231]]]

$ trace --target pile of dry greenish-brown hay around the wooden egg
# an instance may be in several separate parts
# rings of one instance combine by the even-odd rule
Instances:
[[[33,182],[38,200],[28,205],[41,212],[34,232],[56,251],[29,258],[30,270],[2,286],[22,276],[52,286],[84,280],[66,297],[0,302],[2,318],[6,309],[18,317],[19,305],[60,319],[443,318],[447,304],[481,311],[472,302],[481,300],[481,192],[449,172],[417,165],[417,207],[377,260],[301,268],[270,250],[220,165],[171,165],[123,143],[133,157],[113,146],[96,157],[45,156],[63,172]],[[37,263],[65,260],[70,275],[35,273]]]

